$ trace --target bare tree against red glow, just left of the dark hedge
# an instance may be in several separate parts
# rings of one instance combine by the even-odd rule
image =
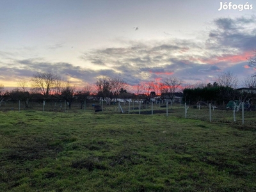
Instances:
[[[161,92],[173,100],[174,93],[181,92],[182,80],[177,77],[166,77],[161,83]]]

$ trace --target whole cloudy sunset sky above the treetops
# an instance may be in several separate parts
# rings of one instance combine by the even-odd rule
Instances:
[[[5,87],[36,72],[81,87],[102,75],[132,86],[166,77],[213,83],[223,72],[243,80],[256,72],[253,49],[255,1],[1,0]]]

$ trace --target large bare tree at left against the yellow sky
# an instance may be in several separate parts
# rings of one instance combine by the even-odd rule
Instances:
[[[60,76],[52,72],[38,72],[31,78],[32,87],[38,90],[44,97],[51,95],[52,89],[56,87],[56,81],[60,80]]]

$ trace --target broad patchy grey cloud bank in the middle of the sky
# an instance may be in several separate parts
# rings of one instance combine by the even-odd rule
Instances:
[[[179,45],[177,45],[179,44]],[[134,84],[141,81],[143,74],[154,78],[170,76],[184,76],[184,74],[198,74],[202,65],[191,61],[189,51],[204,50],[202,44],[196,44],[188,40],[175,40],[152,46],[152,44],[140,44],[134,46],[92,50],[84,53],[84,60],[93,62],[92,58],[104,60],[108,65],[122,74],[127,83]],[[188,54],[183,54],[183,52]],[[179,53],[175,56],[173,53]],[[207,52],[205,54],[208,54]],[[208,54],[210,55],[210,54]],[[196,55],[195,55],[196,56]],[[202,58],[202,56],[198,56]],[[188,77],[188,76],[185,76]]]

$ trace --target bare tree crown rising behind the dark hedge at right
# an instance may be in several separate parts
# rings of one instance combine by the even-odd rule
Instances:
[[[233,72],[228,71],[220,74],[216,79],[216,83],[218,83],[220,86],[236,88],[238,79]]]

